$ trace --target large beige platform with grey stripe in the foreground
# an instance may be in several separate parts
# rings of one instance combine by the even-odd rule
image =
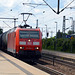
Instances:
[[[0,51],[0,75],[50,75]]]

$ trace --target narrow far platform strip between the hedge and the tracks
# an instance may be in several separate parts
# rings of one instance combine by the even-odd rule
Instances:
[[[60,57],[75,60],[75,54],[73,54],[73,53],[64,53],[64,52],[45,50],[45,49],[42,50],[42,53],[51,54],[54,56],[60,56]]]

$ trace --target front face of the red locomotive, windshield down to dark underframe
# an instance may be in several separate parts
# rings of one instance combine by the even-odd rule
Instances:
[[[40,58],[42,49],[41,40],[41,34],[38,29],[19,30],[19,55]]]

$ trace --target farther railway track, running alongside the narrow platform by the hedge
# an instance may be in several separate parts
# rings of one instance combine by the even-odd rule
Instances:
[[[49,54],[42,54],[41,59],[53,62],[53,66],[54,66],[54,63],[59,63],[59,64],[69,66],[71,68],[75,68],[75,60],[73,59],[63,58],[60,56],[54,56]]]

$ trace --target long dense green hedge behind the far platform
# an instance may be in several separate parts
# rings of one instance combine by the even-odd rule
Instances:
[[[57,40],[55,38],[48,38],[43,39],[42,42],[43,42],[43,49],[75,53],[75,38],[74,39],[59,38]]]

